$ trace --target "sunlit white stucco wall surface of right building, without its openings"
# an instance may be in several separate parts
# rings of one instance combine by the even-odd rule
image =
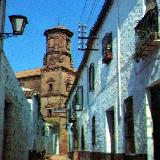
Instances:
[[[157,3],[160,6],[159,0]],[[125,2],[114,0],[108,16],[99,29],[98,39],[94,44],[98,51],[91,51],[78,82],[79,85],[84,86],[84,110],[77,112],[77,117],[79,135],[81,134],[81,126],[84,125],[86,151],[93,151],[91,122],[93,115],[95,115],[96,146],[94,151],[110,153],[106,111],[114,107],[116,153],[125,152],[124,100],[133,96],[136,154],[148,152],[149,159],[153,159],[153,147],[150,147],[150,144],[153,144],[152,136],[148,132],[152,128],[152,121],[150,110],[147,108],[146,88],[160,79],[158,58],[160,51],[159,49],[155,50],[152,55],[147,56],[139,63],[133,58],[135,54],[135,27],[144,14],[145,3],[143,0],[127,0]],[[106,33],[110,32],[113,35],[113,60],[107,65],[102,63],[102,39]],[[87,68],[91,63],[95,65],[95,90],[88,92],[86,77],[88,77]],[[74,92],[70,101],[73,99]],[[146,121],[146,112],[150,117],[148,121]],[[146,128],[147,122],[150,124],[148,129]],[[150,140],[147,140],[147,137]]]

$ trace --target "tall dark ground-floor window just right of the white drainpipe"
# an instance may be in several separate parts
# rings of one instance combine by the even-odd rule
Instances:
[[[134,120],[133,120],[133,98],[129,97],[125,101],[125,144],[126,154],[135,153],[135,141],[134,141]]]

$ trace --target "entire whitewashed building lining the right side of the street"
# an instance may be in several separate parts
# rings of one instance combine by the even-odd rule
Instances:
[[[66,104],[74,159],[160,159],[159,9],[104,2]]]

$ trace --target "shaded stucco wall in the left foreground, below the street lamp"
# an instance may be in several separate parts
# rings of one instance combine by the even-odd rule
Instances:
[[[4,107],[5,101],[11,104],[10,113],[7,113],[10,125],[8,129],[12,137],[8,143],[10,151],[4,152],[8,159],[27,159],[28,157],[28,136],[29,136],[29,123],[30,116],[29,103],[12,71],[3,51],[1,50],[0,56],[0,86],[1,86],[1,119],[0,123],[4,124]],[[5,124],[6,125],[6,124]],[[4,126],[1,125],[1,156],[3,154],[3,137]]]

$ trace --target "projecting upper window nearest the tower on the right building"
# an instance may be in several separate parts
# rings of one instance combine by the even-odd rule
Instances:
[[[83,86],[77,87],[76,92],[76,110],[82,110],[83,109]]]

